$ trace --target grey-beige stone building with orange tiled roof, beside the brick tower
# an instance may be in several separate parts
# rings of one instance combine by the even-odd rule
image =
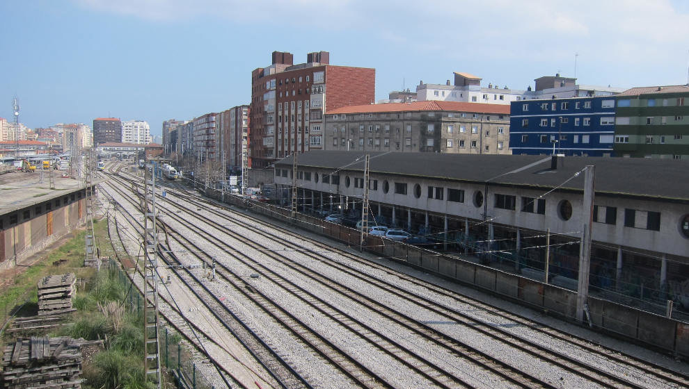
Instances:
[[[315,136],[323,137],[317,143],[325,150],[509,154],[509,106],[454,101],[346,106],[329,111],[324,134]]]

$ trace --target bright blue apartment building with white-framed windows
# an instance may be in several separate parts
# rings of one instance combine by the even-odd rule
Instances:
[[[512,154],[612,156],[615,97],[512,101]]]

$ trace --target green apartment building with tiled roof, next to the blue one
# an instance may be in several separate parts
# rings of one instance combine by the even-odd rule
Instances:
[[[689,86],[617,94],[615,156],[689,159]]]

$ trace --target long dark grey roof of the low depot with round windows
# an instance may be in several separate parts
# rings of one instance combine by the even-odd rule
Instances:
[[[362,172],[365,154],[371,156],[372,174],[475,183],[488,181],[491,185],[547,189],[559,186],[576,191],[583,190],[584,174],[578,174],[570,181],[567,179],[587,165],[595,165],[597,195],[627,195],[689,203],[689,162],[685,160],[569,156],[564,157],[561,167],[551,170],[550,156],[320,150],[300,154],[299,165]],[[279,160],[276,165],[291,167],[292,157]]]

